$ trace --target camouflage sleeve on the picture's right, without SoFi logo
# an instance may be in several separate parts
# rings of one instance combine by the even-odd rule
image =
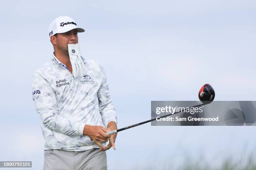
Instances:
[[[116,112],[115,108],[112,104],[112,99],[110,97],[110,91],[107,84],[107,77],[105,71],[101,67],[101,75],[102,75],[102,84],[100,89],[97,92],[98,100],[99,100],[99,107],[100,107],[100,114],[102,117],[102,121],[104,125],[107,127],[108,123],[114,121],[117,123]]]

